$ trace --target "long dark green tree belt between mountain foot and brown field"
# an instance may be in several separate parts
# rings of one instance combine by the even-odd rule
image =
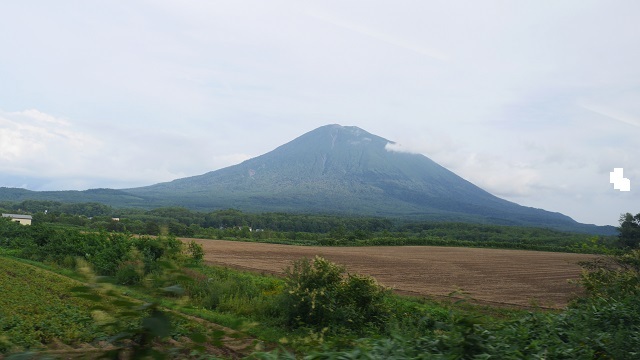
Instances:
[[[260,241],[318,246],[433,245],[491,247],[580,253],[609,253],[620,246],[615,236],[478,223],[400,221],[239,210],[210,213],[185,208],[113,209],[96,203],[48,201],[0,203],[7,212],[33,214],[34,224],[132,234]],[[47,210],[45,214],[44,211]],[[113,220],[118,218],[118,220]]]

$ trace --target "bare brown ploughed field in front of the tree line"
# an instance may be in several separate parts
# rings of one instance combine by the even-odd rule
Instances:
[[[193,239],[184,239],[191,241]],[[397,293],[479,303],[560,308],[580,292],[579,261],[594,255],[437,246],[316,247],[196,239],[208,264],[281,275],[315,255],[373,276]]]

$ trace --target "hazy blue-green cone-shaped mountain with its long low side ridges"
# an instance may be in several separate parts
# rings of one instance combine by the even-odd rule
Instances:
[[[358,127],[326,125],[264,155],[199,176],[123,190],[2,189],[0,199],[337,213],[611,231],[500,199],[426,156],[395,151],[393,145]]]

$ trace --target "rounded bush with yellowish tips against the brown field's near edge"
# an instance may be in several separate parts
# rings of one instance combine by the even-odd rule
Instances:
[[[282,305],[290,327],[361,333],[387,323],[387,290],[371,277],[345,276],[344,267],[319,256],[295,261],[285,274]]]

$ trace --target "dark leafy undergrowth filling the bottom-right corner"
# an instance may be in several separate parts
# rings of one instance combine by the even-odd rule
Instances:
[[[640,250],[585,264],[588,296],[562,312],[497,320],[474,312],[427,314],[385,336],[336,349],[320,344],[306,359],[637,359],[640,356]],[[397,313],[396,313],[397,314]],[[394,318],[397,321],[397,317]],[[254,355],[293,359],[286,350]]]

